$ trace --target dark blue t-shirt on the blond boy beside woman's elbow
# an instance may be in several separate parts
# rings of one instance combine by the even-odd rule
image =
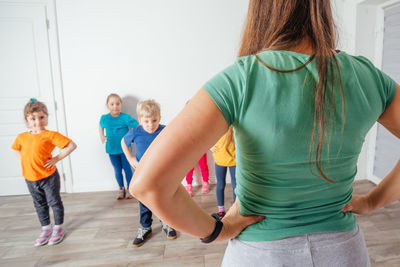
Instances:
[[[147,148],[164,128],[165,125],[160,124],[154,133],[148,133],[143,129],[142,125],[139,125],[134,129],[130,129],[129,132],[124,136],[124,141],[127,146],[130,146],[131,143],[136,144],[137,161],[140,161],[144,152],[146,152]]]

